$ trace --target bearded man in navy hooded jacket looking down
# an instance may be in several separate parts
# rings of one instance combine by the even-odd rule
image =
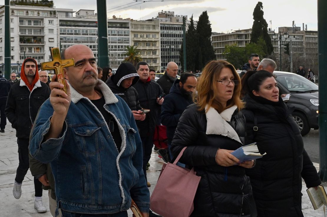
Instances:
[[[176,79],[174,85],[170,89],[170,93],[165,96],[165,100],[161,106],[160,121],[167,127],[170,159],[173,159],[170,146],[178,120],[186,107],[193,103],[192,94],[195,91],[197,82],[197,77],[194,74],[189,72],[183,73],[181,79]]]

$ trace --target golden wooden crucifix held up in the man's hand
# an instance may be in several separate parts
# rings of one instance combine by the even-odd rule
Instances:
[[[57,47],[51,48],[50,52],[51,52],[52,61],[42,63],[41,69],[42,70],[55,70],[55,73],[57,75],[57,81],[60,84],[64,85],[64,88],[62,88],[61,90],[65,91],[65,93],[67,94],[67,88],[66,88],[65,78],[64,78],[62,69],[65,67],[75,66],[74,58],[61,59],[60,51],[59,51],[59,48],[57,48]]]

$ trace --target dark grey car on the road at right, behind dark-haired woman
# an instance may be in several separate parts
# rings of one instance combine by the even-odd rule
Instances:
[[[299,126],[301,135],[308,134],[311,128],[318,130],[318,86],[295,73],[274,71],[274,75],[280,91],[283,94],[290,94],[287,105],[294,108],[292,116]]]

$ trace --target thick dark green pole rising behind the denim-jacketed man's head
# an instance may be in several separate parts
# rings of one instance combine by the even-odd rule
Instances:
[[[98,66],[104,68],[109,66],[106,1],[96,0],[96,8],[98,13]]]

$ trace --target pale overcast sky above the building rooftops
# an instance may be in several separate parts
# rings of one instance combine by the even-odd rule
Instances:
[[[107,16],[145,20],[156,17],[160,11],[174,11],[175,15],[193,14],[198,20],[202,11],[207,10],[213,32],[231,32],[238,29],[251,28],[253,9],[258,1],[253,0],[107,0]],[[147,2],[148,1],[148,2]],[[3,2],[4,0],[0,0]],[[90,2],[94,2],[91,4]],[[277,32],[280,26],[296,26],[307,24],[308,30],[317,30],[317,0],[261,0],[264,18],[268,28]],[[93,9],[96,12],[95,0],[54,0],[56,8]],[[123,6],[125,5],[125,6]],[[270,25],[271,20],[271,25]]]

